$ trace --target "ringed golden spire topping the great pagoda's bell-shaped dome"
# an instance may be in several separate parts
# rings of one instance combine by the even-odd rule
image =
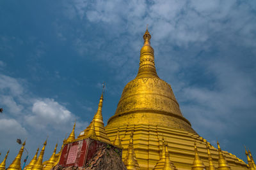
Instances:
[[[144,45],[140,50],[140,67],[137,74],[137,78],[141,77],[156,77],[156,67],[155,67],[155,59],[154,59],[154,49],[150,46],[151,35],[148,32],[148,28],[143,35]]]

